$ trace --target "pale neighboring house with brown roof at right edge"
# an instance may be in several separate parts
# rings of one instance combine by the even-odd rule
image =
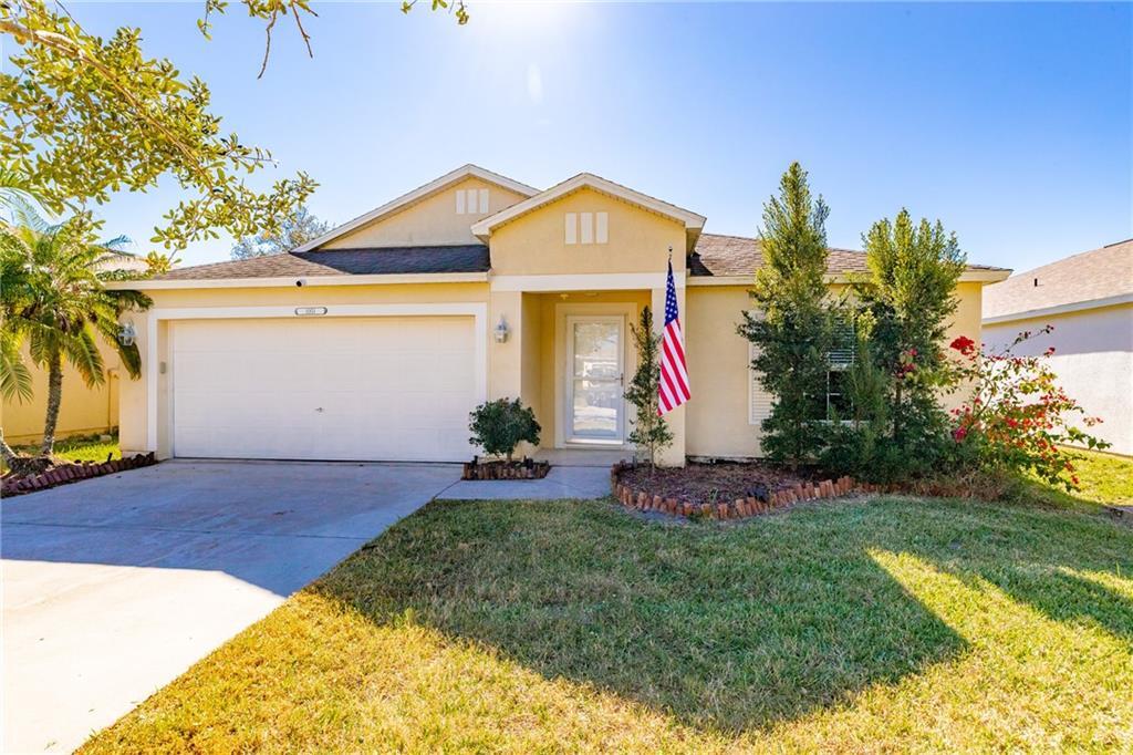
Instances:
[[[1054,325],[1016,353],[1053,346],[1062,387],[1102,419],[1091,434],[1113,443],[1113,452],[1133,455],[1133,239],[1019,273],[983,297],[986,348]]]

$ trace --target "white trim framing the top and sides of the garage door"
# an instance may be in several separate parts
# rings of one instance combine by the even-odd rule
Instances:
[[[406,316],[471,316],[472,331],[476,337],[475,395],[477,404],[487,400],[487,339],[488,339],[488,305],[485,302],[436,303],[436,304],[329,304],[312,305],[309,302],[286,306],[253,307],[178,307],[150,309],[146,312],[145,342],[139,345],[145,364],[146,381],[146,450],[157,451],[157,373],[160,368],[160,348],[157,345],[157,325],[170,320],[235,320],[235,319],[276,319],[289,320],[299,317],[296,307],[325,306],[326,314],[321,317],[406,317]],[[170,372],[172,372],[170,370]],[[167,416],[172,416],[173,392],[167,391]]]

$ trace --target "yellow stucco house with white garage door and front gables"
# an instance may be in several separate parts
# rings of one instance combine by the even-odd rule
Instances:
[[[664,311],[671,249],[692,400],[661,460],[759,456],[769,402],[736,334],[759,247],[704,223],[589,173],[540,192],[466,166],[292,253],[135,283],[154,306],[131,317],[122,448],[465,460],[469,410],[520,397],[545,448],[624,450],[628,329]],[[832,283],[862,270],[833,252]],[[964,272],[952,334],[979,337],[981,288],[1006,275]]]

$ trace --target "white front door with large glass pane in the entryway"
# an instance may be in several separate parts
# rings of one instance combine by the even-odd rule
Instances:
[[[569,442],[625,442],[624,336],[621,315],[566,319]]]

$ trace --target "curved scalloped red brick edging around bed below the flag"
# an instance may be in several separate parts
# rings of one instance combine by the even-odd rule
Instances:
[[[632,464],[619,461],[610,469],[610,486],[614,498],[638,511],[657,511],[672,516],[701,516],[710,519],[744,519],[760,514],[770,514],[800,501],[816,501],[840,498],[855,492],[877,492],[878,486],[855,483],[853,477],[824,480],[818,483],[799,483],[774,491],[766,499],[755,497],[738,498],[734,501],[689,501],[662,498],[646,490],[633,490],[621,482],[622,473],[633,468]]]

